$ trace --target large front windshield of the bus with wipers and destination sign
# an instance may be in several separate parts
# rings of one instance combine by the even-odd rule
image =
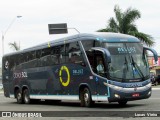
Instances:
[[[110,51],[109,76],[120,82],[142,81],[149,77],[149,66],[140,43],[104,43]]]

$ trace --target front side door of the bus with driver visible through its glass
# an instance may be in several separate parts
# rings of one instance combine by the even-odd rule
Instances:
[[[97,99],[106,101],[109,93],[104,83],[107,82],[107,62],[110,61],[110,59],[108,59],[110,54],[107,55],[107,51],[103,50],[103,48],[92,48],[92,50],[94,54],[94,73],[97,74],[95,76]]]

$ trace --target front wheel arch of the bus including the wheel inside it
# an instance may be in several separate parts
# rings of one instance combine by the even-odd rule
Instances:
[[[79,99],[82,107],[91,107],[93,104],[91,92],[87,85],[81,85],[79,88]]]

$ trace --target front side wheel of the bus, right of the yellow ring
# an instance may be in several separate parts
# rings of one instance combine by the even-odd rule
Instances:
[[[80,92],[80,100],[81,100],[81,106],[82,107],[91,107],[93,104],[91,93],[88,88],[84,88]]]

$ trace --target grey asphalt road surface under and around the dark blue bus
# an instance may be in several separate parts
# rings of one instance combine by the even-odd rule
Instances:
[[[17,104],[15,99],[5,98],[3,96],[3,93],[1,92],[0,111],[1,112],[17,111],[17,113],[20,114],[22,114],[22,112],[25,113],[26,111],[29,112],[29,114],[30,112],[31,113],[39,112],[37,113],[37,115],[41,114],[42,117],[54,116],[55,119],[60,119],[60,120],[67,118],[74,119],[74,117],[76,117],[76,119],[81,119],[81,120],[83,119],[94,120],[97,119],[97,117],[100,119],[106,119],[104,117],[107,117],[107,119],[115,119],[115,120],[117,118],[158,120],[160,117],[160,89],[153,90],[152,96],[149,99],[131,101],[128,102],[128,104],[125,107],[119,106],[118,103],[96,103],[92,108],[80,107],[80,102],[77,101],[62,101],[60,103],[46,103],[45,101],[41,101],[34,104]],[[143,111],[147,112],[143,113]],[[145,117],[143,116],[144,114]],[[137,115],[142,115],[142,117],[139,117]],[[147,115],[152,115],[152,117],[148,117]],[[159,117],[156,117],[156,115],[158,115]],[[26,119],[28,120],[31,118],[26,118]],[[50,119],[50,117],[41,119]]]

